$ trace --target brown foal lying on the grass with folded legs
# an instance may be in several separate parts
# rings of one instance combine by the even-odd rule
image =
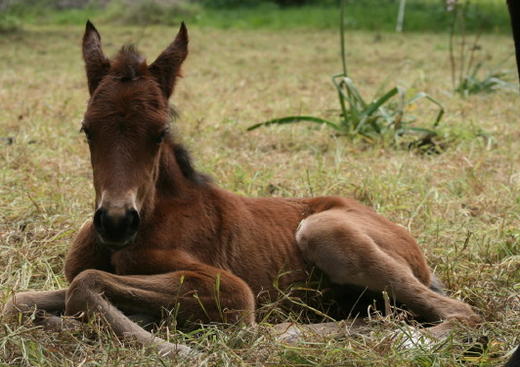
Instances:
[[[434,334],[451,320],[478,321],[470,306],[434,291],[405,229],[357,201],[246,198],[198,173],[169,131],[168,99],[187,46],[182,24],[150,65],[132,47],[109,60],[87,22],[90,100],[81,129],[96,210],[67,254],[69,288],[16,294],[6,313],[99,314],[117,335],[175,355],[189,348],[154,338],[127,315],[159,319],[175,309],[181,320],[253,324],[260,293],[276,297],[316,267],[335,285],[386,290],[421,319],[443,321]]]

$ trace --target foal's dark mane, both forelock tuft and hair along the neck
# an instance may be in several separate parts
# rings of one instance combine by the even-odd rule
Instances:
[[[138,80],[149,75],[146,60],[133,44],[121,47],[110,64],[110,76],[122,83]],[[168,115],[170,123],[175,122],[179,116],[177,110],[171,104],[168,105]],[[184,177],[194,184],[202,185],[211,182],[211,178],[208,175],[200,173],[195,169],[188,150],[184,145],[176,143],[170,132],[168,132],[165,143],[171,147],[171,151]]]

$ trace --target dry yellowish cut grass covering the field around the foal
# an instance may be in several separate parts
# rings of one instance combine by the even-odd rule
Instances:
[[[337,18],[336,18],[337,19]],[[152,60],[172,38],[166,27],[99,27],[106,50],[137,41]],[[64,254],[92,215],[88,149],[79,133],[87,89],[80,59],[83,27],[26,26],[0,38],[0,300],[12,291],[66,286]],[[179,134],[199,169],[249,196],[355,197],[418,239],[449,293],[485,322],[490,353],[463,362],[454,337],[433,347],[399,347],[397,318],[375,318],[364,337],[310,338],[285,345],[258,330],[204,327],[160,333],[206,353],[209,366],[499,366],[520,340],[520,139],[518,95],[451,94],[447,35],[350,32],[352,71],[363,94],[387,82],[424,90],[446,107],[443,154],[423,156],[347,142],[319,127],[246,133],[276,116],[337,115],[329,75],[339,68],[335,30],[190,28],[191,54],[174,103]],[[512,40],[483,35],[502,60]],[[377,46],[377,47],[374,47]],[[513,69],[512,60],[506,65]],[[414,114],[430,113],[417,104]],[[481,130],[492,137],[481,137]],[[0,301],[1,303],[1,301]],[[0,304],[1,306],[1,304]],[[100,333],[98,334],[98,331]],[[462,335],[465,335],[461,331]],[[458,334],[458,335],[460,335]],[[2,323],[0,366],[156,366],[157,354],[121,345],[102,323],[48,332]],[[185,365],[190,365],[186,363]]]

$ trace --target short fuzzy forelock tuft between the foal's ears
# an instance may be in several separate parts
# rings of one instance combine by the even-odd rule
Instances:
[[[147,73],[146,61],[134,45],[121,47],[110,65],[110,75],[123,82],[136,80]]]

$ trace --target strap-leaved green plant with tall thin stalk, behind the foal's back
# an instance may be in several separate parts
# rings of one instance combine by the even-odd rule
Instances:
[[[328,126],[340,135],[348,137],[361,136],[365,140],[375,142],[378,140],[391,139],[391,142],[398,143],[404,135],[419,135],[417,141],[423,141],[425,137],[435,136],[435,128],[444,115],[442,105],[424,92],[417,93],[411,98],[407,98],[404,88],[394,87],[382,95],[376,96],[372,102],[367,102],[359,93],[352,79],[347,73],[347,62],[345,52],[345,25],[344,25],[344,1],[341,3],[340,20],[340,44],[341,61],[343,71],[341,74],[332,77],[336,88],[340,104],[340,120],[333,122],[314,116],[287,116],[264,121],[247,130],[251,131],[261,126],[281,125],[296,122],[313,122]],[[438,107],[437,116],[431,128],[414,126],[415,118],[407,115],[407,109],[425,99]],[[413,142],[412,142],[413,143]]]

